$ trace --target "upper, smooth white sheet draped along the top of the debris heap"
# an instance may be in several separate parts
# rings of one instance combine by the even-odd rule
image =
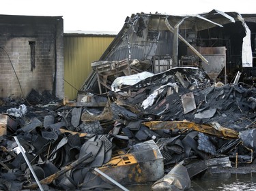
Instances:
[[[137,84],[138,82],[141,82],[141,80],[145,80],[147,77],[152,77],[153,75],[154,73],[143,71],[141,73],[117,77],[111,84],[111,90],[118,92],[121,90],[123,85],[132,86],[134,84]]]

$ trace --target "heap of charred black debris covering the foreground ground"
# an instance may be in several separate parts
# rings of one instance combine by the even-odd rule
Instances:
[[[175,175],[188,188],[188,177],[208,169],[251,164],[256,88],[245,85],[214,84],[201,69],[177,67],[108,94],[81,93],[76,103],[33,92],[9,105],[33,103],[25,115],[3,107],[0,189],[107,190],[156,181],[152,190],[159,190],[162,180],[175,186]]]

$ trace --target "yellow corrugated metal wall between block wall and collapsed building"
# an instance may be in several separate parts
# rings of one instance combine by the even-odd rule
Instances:
[[[91,63],[98,60],[115,35],[64,34],[64,92],[70,100],[91,72]]]

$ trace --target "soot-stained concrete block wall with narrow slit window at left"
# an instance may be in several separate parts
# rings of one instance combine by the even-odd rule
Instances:
[[[0,97],[63,96],[63,19],[1,15],[0,26]]]

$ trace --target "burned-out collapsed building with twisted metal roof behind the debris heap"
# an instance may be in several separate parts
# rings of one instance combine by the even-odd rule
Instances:
[[[240,80],[253,83],[255,21],[255,14],[218,10],[187,16],[132,14],[91,64],[94,73],[83,90],[107,92],[118,76],[182,66],[203,68],[214,82],[225,84],[239,71]]]

